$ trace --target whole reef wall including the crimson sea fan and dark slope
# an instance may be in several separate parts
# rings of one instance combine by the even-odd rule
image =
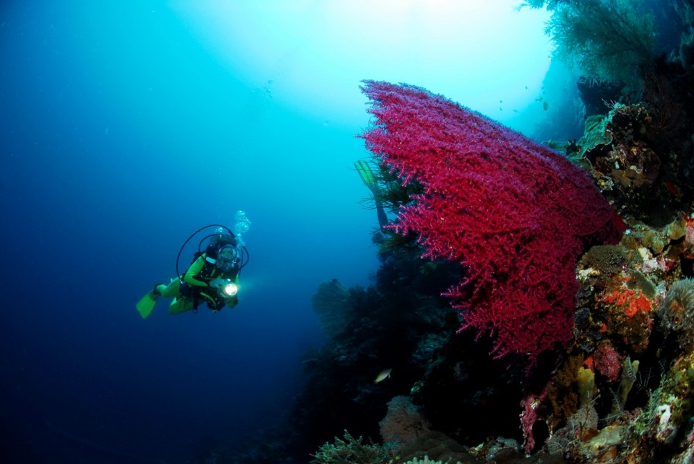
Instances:
[[[371,181],[398,216],[373,235],[378,273],[319,284],[330,340],[305,354],[287,422],[196,462],[694,462],[694,8],[676,3],[679,48],[629,68],[642,98],[583,78],[615,95],[565,145],[588,175],[443,97],[368,81]]]

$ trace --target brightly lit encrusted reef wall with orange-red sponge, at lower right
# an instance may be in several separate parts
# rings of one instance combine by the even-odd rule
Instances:
[[[694,345],[685,340],[694,327],[673,326],[670,316],[691,305],[691,281],[678,279],[694,251],[691,217],[659,228],[635,223],[617,246],[591,248],[579,261],[575,343],[534,417],[548,427],[550,452],[586,463],[677,462],[674,428],[693,412]]]

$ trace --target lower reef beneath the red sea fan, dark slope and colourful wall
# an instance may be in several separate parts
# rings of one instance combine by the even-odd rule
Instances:
[[[572,340],[530,377],[521,363],[490,356],[491,337],[456,332],[459,316],[441,293],[462,268],[423,261],[412,242],[382,248],[366,289],[323,282],[316,298],[350,318],[305,357],[309,377],[290,424],[209,462],[691,462],[694,205],[659,226],[627,220],[619,243],[577,261]],[[393,375],[374,384],[384,368]],[[412,421],[385,427],[398,415],[391,406]],[[398,427],[407,438],[393,446]],[[319,448],[345,429],[351,435]]]

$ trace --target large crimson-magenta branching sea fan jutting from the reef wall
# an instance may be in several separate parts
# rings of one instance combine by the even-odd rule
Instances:
[[[412,85],[365,80],[373,126],[361,137],[423,193],[391,227],[416,232],[423,257],[461,263],[446,293],[462,329],[493,336],[493,354],[529,366],[572,336],[585,246],[616,243],[620,220],[586,173],[518,132]]]

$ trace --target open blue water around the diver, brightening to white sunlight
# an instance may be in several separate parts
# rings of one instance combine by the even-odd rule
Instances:
[[[518,3],[4,1],[0,461],[185,463],[290,420],[316,287],[378,269],[361,80],[532,135],[552,44]],[[143,320],[237,211],[237,307]]]

